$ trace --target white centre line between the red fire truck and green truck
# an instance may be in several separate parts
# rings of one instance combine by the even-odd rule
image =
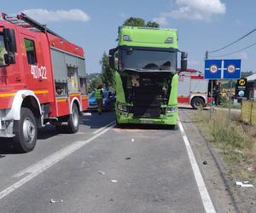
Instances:
[[[108,130],[110,130],[113,127],[113,122],[106,125],[101,132],[99,132],[97,135],[93,135],[86,141],[76,141],[73,142],[73,144],[62,148],[60,151],[57,151],[53,154],[51,154],[49,157],[44,158],[43,160],[39,161],[37,164],[33,164],[32,166],[26,168],[26,170],[22,170],[19,173],[17,173],[14,177],[20,177],[24,176],[26,174],[29,174],[22,178],[20,181],[16,181],[13,185],[7,187],[2,192],[0,192],[0,199],[3,199],[5,196],[7,196],[9,193],[12,193],[15,191],[15,189],[21,187],[26,182],[31,181],[34,177],[40,175],[44,170],[49,169],[54,164],[61,161],[63,158],[67,158],[70,154],[74,153],[75,151],[79,150],[81,147],[84,147],[84,145],[90,143],[91,141],[95,140],[100,135],[103,135]]]

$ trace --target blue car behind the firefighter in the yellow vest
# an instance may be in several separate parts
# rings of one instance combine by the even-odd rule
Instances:
[[[110,111],[113,110],[114,104],[115,104],[115,95],[113,92],[109,90],[103,90],[103,110],[104,111]],[[89,107],[88,110],[96,110],[97,109],[97,103],[95,98],[95,91],[91,92],[89,95]]]

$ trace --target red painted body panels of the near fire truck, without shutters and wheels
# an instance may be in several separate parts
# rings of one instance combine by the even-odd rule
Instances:
[[[5,28],[15,30],[17,52],[15,64],[0,67],[0,109],[12,107],[12,101],[17,91],[27,89],[34,91],[40,104],[49,103],[49,117],[60,117],[70,114],[70,104],[73,97],[77,97],[81,103],[81,111],[88,107],[87,95],[80,92],[68,94],[67,97],[57,98],[55,95],[55,80],[50,55],[50,48],[59,49],[69,55],[84,58],[84,50],[56,37],[49,32],[33,32],[26,27],[17,26],[6,20],[0,20],[0,32]],[[34,72],[40,72],[38,78],[32,75],[32,65],[27,61],[24,38],[32,39],[36,49],[37,64]]]

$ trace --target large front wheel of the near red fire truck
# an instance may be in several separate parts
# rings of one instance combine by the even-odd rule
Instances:
[[[20,120],[15,121],[14,133],[15,149],[19,153],[28,153],[36,146],[38,127],[29,108],[21,107]]]

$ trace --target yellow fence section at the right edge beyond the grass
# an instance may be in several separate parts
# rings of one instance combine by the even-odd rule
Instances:
[[[242,101],[241,120],[256,125],[256,101]]]

